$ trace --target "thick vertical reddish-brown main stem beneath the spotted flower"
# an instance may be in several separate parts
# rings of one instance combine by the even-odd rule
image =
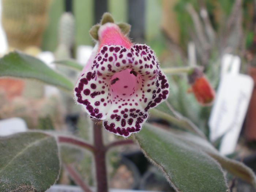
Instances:
[[[97,191],[108,192],[108,179],[106,169],[106,150],[102,137],[102,124],[95,123],[93,127],[94,159],[97,178]]]

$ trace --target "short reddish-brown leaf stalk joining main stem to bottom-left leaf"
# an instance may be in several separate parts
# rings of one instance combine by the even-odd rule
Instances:
[[[72,137],[69,137],[69,136],[58,136],[58,141],[60,143],[68,143],[68,144],[73,144],[75,146],[83,147],[83,148],[86,148],[90,151],[95,150],[94,146],[92,146],[91,144],[86,143],[85,141],[80,140],[78,138],[72,138]]]

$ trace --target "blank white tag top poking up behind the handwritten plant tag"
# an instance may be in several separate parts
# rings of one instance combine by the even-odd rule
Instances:
[[[241,59],[232,54],[225,54],[221,62],[221,78],[229,74],[238,74],[240,70]]]

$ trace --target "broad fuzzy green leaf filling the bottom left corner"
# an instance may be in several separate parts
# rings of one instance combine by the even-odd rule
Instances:
[[[0,138],[0,191],[46,191],[59,176],[56,139],[40,132]]]

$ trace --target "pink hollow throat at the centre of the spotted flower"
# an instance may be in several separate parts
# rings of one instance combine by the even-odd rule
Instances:
[[[131,69],[114,74],[110,80],[110,93],[112,98],[127,98],[131,97],[139,87],[140,76]]]

